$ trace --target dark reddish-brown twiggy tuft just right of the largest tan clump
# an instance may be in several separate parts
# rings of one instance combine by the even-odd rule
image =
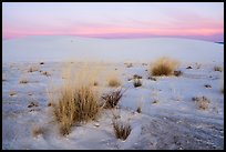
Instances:
[[[117,105],[120,99],[122,98],[123,92],[122,89],[117,89],[110,93],[103,94],[102,99],[104,100],[103,108],[104,109],[113,109]]]

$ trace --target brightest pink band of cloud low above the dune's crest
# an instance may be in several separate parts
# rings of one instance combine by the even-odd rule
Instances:
[[[109,36],[115,37],[121,36],[133,36],[133,34],[144,34],[144,36],[213,36],[224,33],[224,28],[216,24],[215,27],[199,26],[197,28],[133,28],[133,27],[113,27],[113,26],[74,26],[71,29],[33,29],[33,30],[4,30],[3,38],[18,38],[32,34],[78,34],[78,36]]]

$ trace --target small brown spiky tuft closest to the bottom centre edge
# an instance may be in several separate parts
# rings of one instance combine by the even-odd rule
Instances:
[[[131,124],[119,120],[113,120],[113,129],[115,136],[121,140],[126,140],[132,131]]]

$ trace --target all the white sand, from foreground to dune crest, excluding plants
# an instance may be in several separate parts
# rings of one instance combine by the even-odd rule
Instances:
[[[187,39],[122,39],[103,40],[75,37],[28,37],[3,41],[2,65],[2,149],[133,149],[133,150],[197,150],[224,149],[224,94],[220,93],[224,73],[224,44]],[[147,79],[144,62],[157,57],[172,57],[183,64],[181,77]],[[44,64],[40,64],[43,60]],[[104,110],[96,121],[72,128],[61,136],[48,107],[48,91],[52,84],[64,80],[62,69],[65,60],[73,70],[86,65],[92,70],[97,62],[103,92],[114,90],[106,85],[105,77],[116,69],[122,89],[126,90],[113,112],[129,122],[132,132],[125,141],[115,138],[112,111]],[[24,61],[24,62],[23,62]],[[51,62],[56,61],[56,62]],[[127,68],[124,62],[131,61]],[[13,62],[13,63],[11,63]],[[28,63],[30,62],[30,63]],[[122,63],[117,63],[122,62]],[[142,62],[142,63],[135,63]],[[194,63],[197,62],[199,64]],[[66,64],[65,64],[66,65]],[[186,69],[188,65],[193,69]],[[219,65],[223,71],[215,71]],[[28,72],[30,67],[38,71]],[[42,74],[48,71],[51,75]],[[142,87],[134,88],[129,79],[142,77]],[[28,83],[19,83],[21,79]],[[208,84],[210,88],[206,88]],[[11,92],[14,95],[10,95]],[[54,92],[56,95],[58,92]],[[199,110],[192,100],[206,97],[210,102],[207,110]],[[158,101],[154,103],[154,101]],[[29,108],[31,102],[38,107]],[[142,105],[142,112],[136,109]],[[99,126],[96,126],[99,124]],[[32,135],[33,126],[44,128],[44,133]]]

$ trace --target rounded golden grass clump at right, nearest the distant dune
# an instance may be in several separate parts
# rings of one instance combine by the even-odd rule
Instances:
[[[178,62],[170,58],[160,58],[150,67],[150,75],[172,75]]]

